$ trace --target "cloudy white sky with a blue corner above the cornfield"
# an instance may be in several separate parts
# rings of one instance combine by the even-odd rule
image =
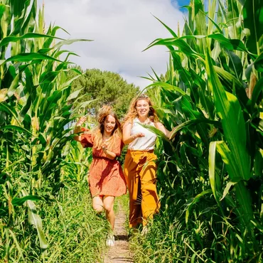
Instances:
[[[41,1],[38,1],[40,4]],[[122,75],[128,83],[143,89],[151,84],[140,76],[166,73],[168,50],[155,46],[142,52],[156,38],[170,38],[159,21],[178,31],[184,16],[180,6],[189,0],[45,0],[45,23],[64,28],[62,38],[86,38],[92,42],[65,46],[80,57],[70,61],[83,70],[98,68]]]

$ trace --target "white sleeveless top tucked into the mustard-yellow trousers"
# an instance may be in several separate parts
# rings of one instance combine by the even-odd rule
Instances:
[[[132,141],[129,144],[128,149],[137,151],[153,150],[156,141],[156,134],[154,134],[154,132],[149,131],[149,129],[142,127],[140,123],[141,122],[138,118],[134,119],[134,123],[132,124],[131,129],[131,135],[135,135],[141,132],[145,136],[134,139],[134,141]],[[148,125],[154,127],[154,122],[149,122]]]

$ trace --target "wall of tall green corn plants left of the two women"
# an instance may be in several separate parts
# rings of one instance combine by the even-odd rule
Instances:
[[[58,26],[46,30],[35,0],[1,1],[0,22],[0,254],[8,262],[23,259],[29,225],[38,235],[35,253],[47,254],[34,201],[52,200],[63,186],[63,147],[70,139],[64,127],[88,102],[77,104],[80,90],[70,93],[80,72],[68,76],[75,54],[61,49],[84,40],[57,38]]]

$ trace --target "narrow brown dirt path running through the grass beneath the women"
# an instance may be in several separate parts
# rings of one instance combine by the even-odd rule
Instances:
[[[104,263],[134,262],[129,251],[129,238],[124,227],[125,219],[126,215],[119,203],[119,213],[116,215],[114,229],[115,245],[109,247],[104,257]]]

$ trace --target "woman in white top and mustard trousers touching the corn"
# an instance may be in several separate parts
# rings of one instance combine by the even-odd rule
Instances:
[[[124,161],[124,175],[129,190],[129,227],[146,224],[159,211],[156,191],[156,134],[141,126],[156,127],[168,138],[171,135],[156,115],[152,102],[146,95],[136,97],[124,118],[123,142],[129,144]]]

